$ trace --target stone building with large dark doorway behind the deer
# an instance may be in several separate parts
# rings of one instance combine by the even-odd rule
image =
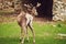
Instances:
[[[6,6],[3,1],[8,4]],[[2,8],[3,2],[4,7],[9,8],[11,6],[14,9],[20,10],[21,6],[19,1],[21,4],[32,3],[33,6],[36,6],[36,3],[40,2],[41,7],[37,8],[37,16],[45,18],[46,20],[64,21],[66,18],[66,0],[0,0],[0,9]]]

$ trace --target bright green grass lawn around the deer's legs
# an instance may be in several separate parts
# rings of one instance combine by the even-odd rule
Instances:
[[[66,37],[61,38],[61,36],[57,36],[58,33],[66,34],[66,23],[38,24],[33,22],[33,26],[36,44],[66,44]],[[25,42],[25,44],[33,44],[30,30],[29,35],[30,42]],[[0,23],[0,44],[20,44],[20,26],[16,22]]]

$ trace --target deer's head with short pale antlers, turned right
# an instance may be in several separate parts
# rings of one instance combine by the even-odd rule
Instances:
[[[32,3],[30,3],[30,4],[24,4],[24,7],[28,8],[28,12],[29,12],[29,13],[32,13],[32,14],[34,14],[34,15],[37,15],[36,8],[38,8],[40,6],[41,6],[41,3],[38,3],[38,2],[37,2],[37,4],[36,4],[35,7],[33,7]]]

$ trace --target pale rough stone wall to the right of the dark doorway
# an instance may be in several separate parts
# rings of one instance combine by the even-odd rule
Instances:
[[[66,21],[66,3],[63,0],[54,1],[53,15],[54,21]]]

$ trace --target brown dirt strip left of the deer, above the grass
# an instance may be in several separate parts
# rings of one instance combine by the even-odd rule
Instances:
[[[15,21],[15,14],[0,14],[0,23]]]

